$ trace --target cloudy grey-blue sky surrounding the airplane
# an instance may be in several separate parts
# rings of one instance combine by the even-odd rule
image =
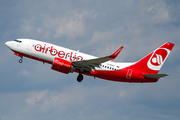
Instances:
[[[180,120],[179,0],[0,1],[0,120]],[[51,70],[6,41],[31,38],[134,62],[175,43],[156,83],[123,83]]]

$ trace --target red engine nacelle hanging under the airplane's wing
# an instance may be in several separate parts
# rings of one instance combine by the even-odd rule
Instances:
[[[72,69],[72,63],[61,58],[54,58],[51,69],[68,74]]]

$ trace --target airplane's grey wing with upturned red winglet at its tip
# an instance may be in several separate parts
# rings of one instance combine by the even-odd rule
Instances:
[[[114,60],[119,55],[122,49],[123,46],[121,46],[116,52],[114,52],[110,56],[83,61],[74,61],[72,62],[72,65],[75,69],[79,69],[80,72],[83,72],[84,70],[91,72],[93,69],[95,69],[95,67],[99,67],[101,63],[107,62],[109,60]]]

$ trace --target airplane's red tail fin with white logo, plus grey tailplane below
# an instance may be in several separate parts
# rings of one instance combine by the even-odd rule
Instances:
[[[163,77],[163,75],[156,76],[153,74],[157,74],[159,72],[173,47],[173,43],[166,42],[164,45],[160,46],[159,48],[133,64],[131,68],[144,72],[146,74],[145,77]]]

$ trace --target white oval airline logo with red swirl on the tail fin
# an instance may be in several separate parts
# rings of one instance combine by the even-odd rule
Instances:
[[[166,48],[159,48],[155,50],[152,56],[150,57],[147,63],[147,66],[151,70],[160,70],[161,66],[163,65],[169,53],[170,53],[170,50]]]

